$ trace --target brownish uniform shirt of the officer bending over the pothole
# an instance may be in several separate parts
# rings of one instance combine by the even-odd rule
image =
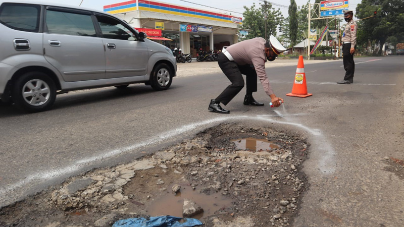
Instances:
[[[271,95],[274,92],[271,89],[267,73],[265,72],[265,63],[267,62],[267,57],[265,55],[266,42],[267,41],[265,41],[264,38],[257,37],[235,43],[227,47],[226,50],[233,57],[234,62],[237,63],[237,65],[254,65],[265,93]]]

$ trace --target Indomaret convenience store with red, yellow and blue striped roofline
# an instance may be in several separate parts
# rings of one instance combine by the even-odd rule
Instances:
[[[209,51],[238,42],[241,17],[157,1],[133,0],[104,6],[139,31],[170,49],[181,48],[193,57],[199,48]],[[241,31],[244,32],[244,31]]]

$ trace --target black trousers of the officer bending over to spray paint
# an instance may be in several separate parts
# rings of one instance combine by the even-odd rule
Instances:
[[[252,65],[240,66],[237,63],[229,61],[224,53],[220,53],[218,56],[218,63],[220,69],[230,80],[231,84],[224,89],[224,91],[215,99],[227,105],[231,99],[233,99],[238,92],[244,87],[244,79],[242,74],[246,76],[245,81],[247,84],[247,94],[257,91],[257,72]]]

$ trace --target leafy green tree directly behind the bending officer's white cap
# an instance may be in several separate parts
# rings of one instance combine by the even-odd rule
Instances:
[[[244,6],[243,24],[240,26],[242,29],[250,29],[246,39],[255,37],[265,38],[265,15],[267,16],[267,38],[271,34],[276,35],[276,28],[282,19],[280,10],[272,8],[272,4],[265,5],[260,4],[260,8],[256,8],[256,4],[253,3],[250,8]]]

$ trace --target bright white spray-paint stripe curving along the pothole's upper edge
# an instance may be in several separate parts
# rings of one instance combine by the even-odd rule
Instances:
[[[276,113],[277,113],[277,116],[280,116],[282,118],[285,118],[285,117],[288,117],[288,116],[304,115],[304,114],[301,114],[301,113],[297,113],[297,114],[294,114],[294,115],[281,115],[278,111],[276,111]],[[210,120],[206,120],[206,121],[203,121],[203,122],[198,122],[198,123],[185,125],[185,126],[182,126],[180,128],[176,128],[174,130],[165,132],[165,133],[163,133],[161,135],[158,135],[158,136],[156,136],[156,137],[154,137],[152,139],[146,140],[146,141],[144,141],[142,143],[133,144],[133,145],[130,145],[130,146],[127,146],[127,147],[107,151],[104,154],[95,155],[95,156],[92,156],[92,157],[89,157],[89,158],[81,159],[81,160],[76,161],[74,164],[72,164],[70,166],[66,166],[64,168],[57,168],[57,169],[53,169],[51,171],[47,171],[47,172],[44,172],[44,173],[37,173],[37,174],[31,175],[31,176],[28,176],[22,181],[19,181],[19,182],[13,184],[13,185],[10,185],[8,187],[0,189],[0,197],[4,197],[4,196],[6,196],[6,194],[8,192],[13,191],[15,189],[18,189],[20,187],[23,187],[24,185],[27,185],[27,184],[29,184],[29,183],[31,183],[33,181],[52,180],[53,178],[56,178],[56,177],[71,174],[71,173],[74,173],[74,171],[77,171],[78,169],[80,169],[82,166],[88,165],[93,161],[113,157],[113,156],[119,155],[119,154],[127,152],[127,151],[131,151],[131,150],[134,150],[134,149],[137,149],[137,148],[146,147],[146,146],[150,146],[150,145],[155,145],[155,144],[161,143],[162,140],[171,138],[173,136],[178,136],[178,135],[181,135],[183,133],[190,132],[191,130],[195,130],[195,129],[199,128],[199,127],[203,127],[203,126],[213,124],[213,123],[219,123],[219,122],[224,122],[224,121],[229,121],[229,120],[239,120],[239,119],[248,118],[249,120],[259,120],[259,121],[266,121],[266,122],[271,122],[271,123],[288,124],[288,125],[296,126],[298,128],[302,128],[302,129],[306,130],[307,132],[311,133],[314,136],[321,136],[322,135],[320,130],[313,130],[313,129],[310,129],[309,127],[306,127],[306,126],[298,124],[298,123],[281,122],[281,121],[277,121],[277,120],[273,120],[273,119],[268,119],[268,117],[277,117],[277,116],[276,115],[260,115],[260,116],[257,116],[257,117],[249,117],[249,116],[222,117],[222,118],[215,118],[215,119],[210,119]],[[323,146],[323,147],[327,147],[327,146]],[[331,147],[331,146],[329,145],[328,147]],[[324,158],[328,159],[328,156],[324,157]],[[327,165],[324,165],[324,166],[327,166]],[[331,173],[331,172],[333,172],[333,169],[328,169],[327,172]]]

